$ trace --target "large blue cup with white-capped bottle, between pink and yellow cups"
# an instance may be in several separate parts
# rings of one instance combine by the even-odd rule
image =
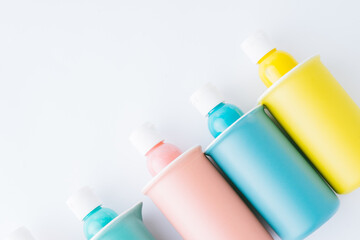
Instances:
[[[281,239],[304,239],[336,212],[337,196],[264,106],[243,115],[224,103],[211,84],[195,92],[191,101],[208,116],[216,137],[205,154]]]

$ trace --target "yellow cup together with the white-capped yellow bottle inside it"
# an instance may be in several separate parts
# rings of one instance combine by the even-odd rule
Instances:
[[[340,194],[360,186],[360,108],[321,63],[297,64],[263,33],[242,43],[268,89],[259,98]]]

